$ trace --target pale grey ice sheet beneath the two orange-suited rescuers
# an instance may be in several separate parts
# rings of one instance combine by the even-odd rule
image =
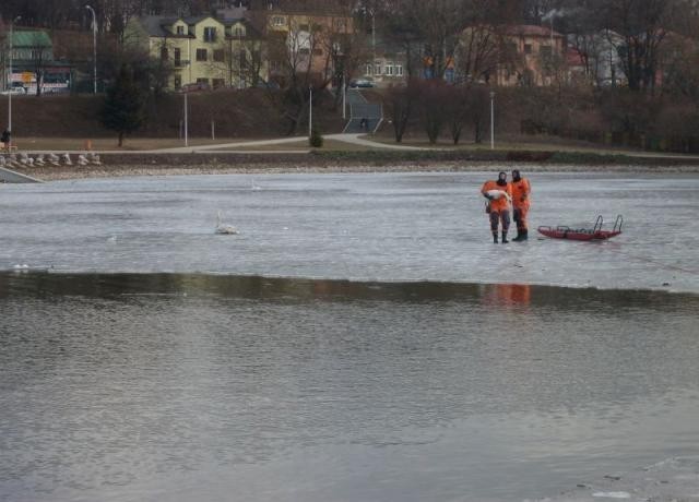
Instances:
[[[81,180],[0,191],[0,270],[521,283],[699,292],[699,178],[535,174],[530,241],[491,243],[494,174]],[[238,236],[217,236],[216,213]],[[608,242],[538,225],[611,227]],[[510,238],[513,231],[510,232]]]

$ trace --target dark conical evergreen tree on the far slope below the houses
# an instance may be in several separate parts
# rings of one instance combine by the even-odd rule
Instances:
[[[145,122],[143,95],[133,82],[132,72],[125,65],[114,85],[107,91],[102,108],[102,123],[119,134],[119,146],[123,136],[137,131]]]

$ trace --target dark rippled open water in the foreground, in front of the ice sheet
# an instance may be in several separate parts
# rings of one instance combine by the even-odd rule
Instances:
[[[521,500],[699,446],[699,297],[0,274],[0,500]]]

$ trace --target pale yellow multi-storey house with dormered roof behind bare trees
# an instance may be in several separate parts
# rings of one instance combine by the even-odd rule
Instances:
[[[260,34],[244,19],[137,17],[126,38],[127,46],[147,51],[166,88],[242,88],[266,81]]]

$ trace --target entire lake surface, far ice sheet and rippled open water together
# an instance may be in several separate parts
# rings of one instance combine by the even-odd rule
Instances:
[[[696,456],[699,180],[534,175],[532,227],[624,234],[496,246],[486,176],[1,187],[0,500],[514,501]]]

